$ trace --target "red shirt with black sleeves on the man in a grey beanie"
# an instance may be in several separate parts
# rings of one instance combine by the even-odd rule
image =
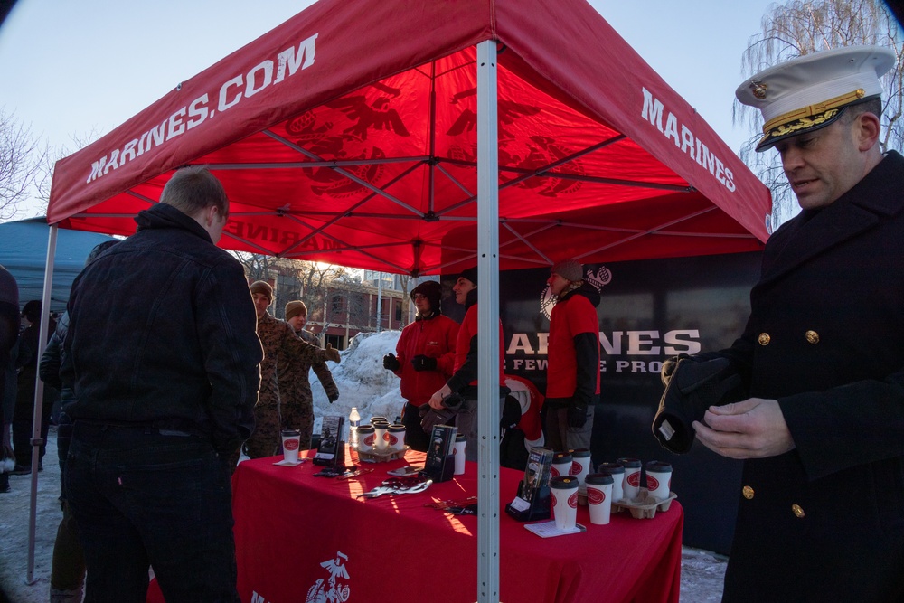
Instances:
[[[560,297],[550,316],[546,402],[599,400],[599,292],[585,283]]]

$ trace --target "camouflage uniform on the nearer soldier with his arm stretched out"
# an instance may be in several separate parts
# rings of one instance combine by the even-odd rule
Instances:
[[[258,319],[258,337],[264,348],[260,363],[260,390],[254,406],[254,433],[245,440],[250,458],[272,457],[282,450],[279,404],[279,366],[306,366],[325,361],[325,351],[299,339],[288,323],[264,313]],[[313,416],[313,410],[311,412]]]

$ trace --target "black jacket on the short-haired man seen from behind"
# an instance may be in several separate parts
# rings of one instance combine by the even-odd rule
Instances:
[[[244,272],[183,212],[157,203],[72,285],[62,382],[72,420],[209,435],[231,454],[254,428],[263,356]]]

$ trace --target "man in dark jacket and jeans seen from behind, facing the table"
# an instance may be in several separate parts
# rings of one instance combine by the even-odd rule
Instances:
[[[65,486],[91,600],[238,601],[227,460],[254,427],[262,358],[229,215],[206,169],[177,171],[137,233],[72,286],[61,381],[75,399]]]

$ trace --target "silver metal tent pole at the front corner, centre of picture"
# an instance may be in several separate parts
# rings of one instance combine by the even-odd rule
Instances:
[[[496,42],[477,44],[477,600],[499,601],[499,146]]]

